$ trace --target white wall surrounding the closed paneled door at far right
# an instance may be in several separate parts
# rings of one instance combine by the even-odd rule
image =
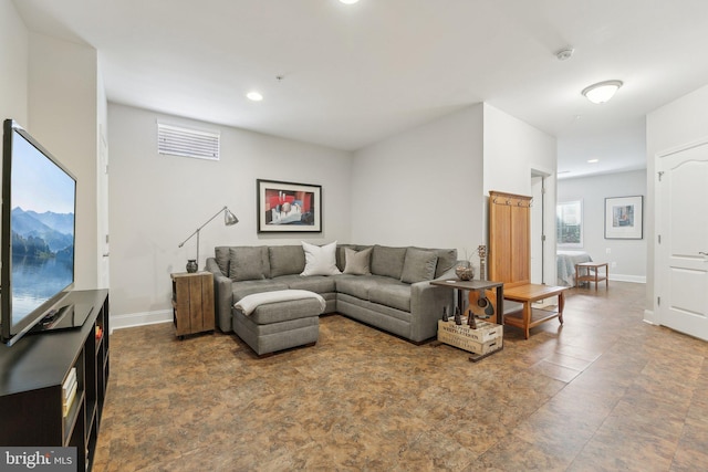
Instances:
[[[688,143],[708,138],[708,85],[687,94],[656,111],[646,119],[647,153],[647,294],[644,318],[656,323],[655,318],[655,221],[654,196],[656,186],[656,156]]]

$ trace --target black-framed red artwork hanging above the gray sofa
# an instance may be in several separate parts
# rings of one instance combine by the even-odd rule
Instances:
[[[322,186],[257,179],[258,232],[322,232]]]

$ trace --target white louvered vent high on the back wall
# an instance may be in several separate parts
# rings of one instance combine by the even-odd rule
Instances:
[[[219,160],[220,134],[157,124],[157,151],[163,155]]]

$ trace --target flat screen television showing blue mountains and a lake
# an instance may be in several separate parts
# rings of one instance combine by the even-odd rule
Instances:
[[[76,178],[14,120],[2,132],[0,339],[11,346],[87,314],[63,303],[74,286]]]

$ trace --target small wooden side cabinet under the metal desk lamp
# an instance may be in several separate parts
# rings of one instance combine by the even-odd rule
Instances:
[[[175,273],[173,279],[173,315],[176,335],[210,331],[214,333],[214,274],[211,272]]]

